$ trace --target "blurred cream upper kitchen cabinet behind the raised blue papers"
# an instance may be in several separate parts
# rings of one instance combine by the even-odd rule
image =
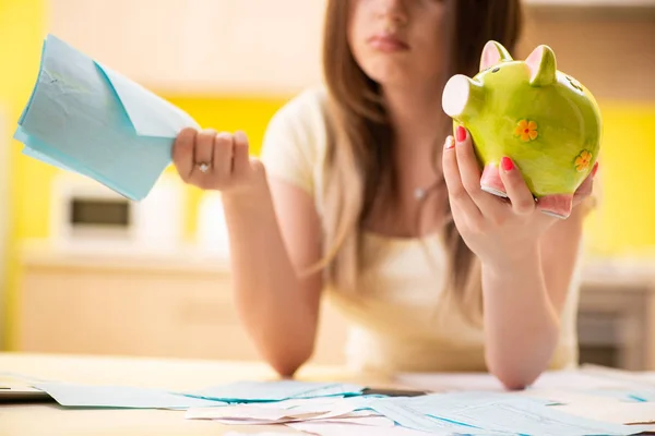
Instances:
[[[49,32],[148,88],[288,94],[321,80],[325,0],[51,0]]]

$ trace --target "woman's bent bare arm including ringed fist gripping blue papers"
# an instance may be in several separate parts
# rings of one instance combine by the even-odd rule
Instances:
[[[310,195],[267,181],[240,132],[184,130],[174,161],[187,183],[222,192],[239,315],[264,359],[281,375],[293,375],[313,351],[321,290],[319,274],[299,274],[320,256]],[[212,168],[202,172],[200,162]]]

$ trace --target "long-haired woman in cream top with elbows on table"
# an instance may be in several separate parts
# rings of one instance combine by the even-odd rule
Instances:
[[[488,370],[522,388],[575,363],[591,180],[565,220],[509,159],[509,201],[488,194],[441,109],[445,81],[474,75],[490,39],[513,50],[520,26],[516,0],[330,0],[325,89],[275,114],[261,160],[241,132],[180,133],[175,164],[222,191],[237,305],[281,375],[312,354],[322,294],[353,322],[360,370]]]

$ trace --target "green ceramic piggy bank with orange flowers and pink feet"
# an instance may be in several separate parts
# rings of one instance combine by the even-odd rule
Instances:
[[[487,43],[480,72],[451,77],[442,106],[471,132],[484,167],[483,190],[507,197],[498,170],[507,156],[541,211],[569,217],[573,195],[598,157],[602,118],[590,90],[557,70],[548,46],[515,61],[501,44]]]

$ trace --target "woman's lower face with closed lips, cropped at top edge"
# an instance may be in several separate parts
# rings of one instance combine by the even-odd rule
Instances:
[[[350,0],[348,44],[383,86],[434,81],[442,64],[443,0]]]

